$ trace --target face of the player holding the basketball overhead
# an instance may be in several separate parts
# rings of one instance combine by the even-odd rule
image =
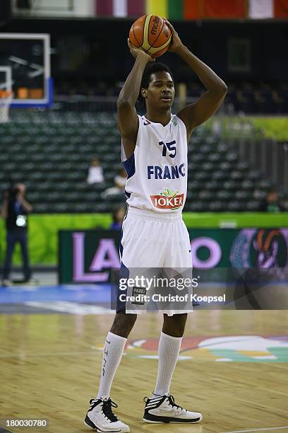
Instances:
[[[159,108],[170,108],[174,101],[175,89],[169,72],[155,72],[151,75],[149,87],[145,91],[146,104]]]

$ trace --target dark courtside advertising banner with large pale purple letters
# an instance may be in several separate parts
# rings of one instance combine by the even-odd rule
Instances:
[[[280,270],[280,279],[287,275],[287,228],[188,229],[188,232],[193,274],[196,270],[209,271],[206,275],[210,281],[217,281],[227,278],[227,270],[232,275],[233,270],[271,268]],[[59,231],[59,283],[109,282],[111,270],[120,267],[120,239],[121,232],[114,230]]]

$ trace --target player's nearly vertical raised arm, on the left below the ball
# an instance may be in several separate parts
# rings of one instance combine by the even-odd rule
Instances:
[[[127,158],[133,154],[136,146],[139,122],[135,103],[140,92],[143,71],[148,62],[155,61],[155,59],[152,59],[149,54],[146,54],[140,48],[134,48],[129,40],[128,47],[136,61],[117,100],[117,127],[123,139]]]

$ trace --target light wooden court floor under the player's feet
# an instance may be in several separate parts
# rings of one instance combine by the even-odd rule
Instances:
[[[135,433],[288,432],[287,318],[286,311],[198,311],[188,317],[171,393],[176,403],[203,413],[201,425],[142,421],[143,397],[155,384],[162,317],[138,318],[112,388],[116,414]],[[0,418],[48,418],[49,432],[89,432],[83,417],[97,393],[112,320],[2,314]]]

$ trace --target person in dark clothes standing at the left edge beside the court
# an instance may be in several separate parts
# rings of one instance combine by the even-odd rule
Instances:
[[[33,210],[25,200],[26,187],[23,183],[16,183],[4,193],[1,207],[1,217],[6,220],[6,257],[3,267],[3,285],[11,285],[9,279],[11,260],[16,242],[20,243],[23,258],[24,279],[19,282],[29,282],[31,269],[28,255],[28,214]]]

